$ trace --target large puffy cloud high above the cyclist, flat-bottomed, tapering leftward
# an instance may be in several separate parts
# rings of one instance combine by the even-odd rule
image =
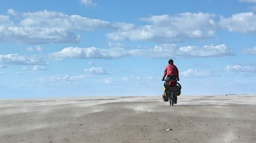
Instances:
[[[174,16],[154,15],[140,18],[150,23],[130,30],[119,30],[106,36],[122,41],[157,41],[169,43],[185,39],[201,39],[215,35],[214,15],[208,13],[180,13]]]

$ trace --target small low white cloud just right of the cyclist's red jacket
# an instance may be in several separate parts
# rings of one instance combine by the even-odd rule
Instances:
[[[216,76],[214,72],[209,70],[198,72],[196,69],[188,69],[186,71],[180,72],[183,77],[213,77]]]

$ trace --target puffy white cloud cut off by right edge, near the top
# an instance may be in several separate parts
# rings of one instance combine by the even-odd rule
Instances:
[[[219,25],[221,28],[230,32],[244,34],[256,33],[256,15],[253,12],[238,13],[232,17],[220,17]]]

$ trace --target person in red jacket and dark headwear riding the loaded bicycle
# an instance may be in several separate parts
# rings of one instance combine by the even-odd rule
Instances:
[[[168,84],[172,84],[170,83],[169,81],[172,80],[174,81],[174,83],[177,83],[177,80],[179,81],[179,70],[178,68],[174,65],[174,61],[172,59],[170,59],[168,61],[168,65],[165,67],[164,69],[164,73],[163,73],[163,77],[162,77],[162,81],[164,80],[165,76],[167,75],[166,79],[165,79],[165,83],[164,83],[164,86],[168,86]],[[163,94],[163,98],[164,98],[164,101],[165,100],[165,94]],[[168,101],[168,100],[167,100]],[[177,103],[177,98],[176,100],[174,101],[174,103],[176,104]]]

